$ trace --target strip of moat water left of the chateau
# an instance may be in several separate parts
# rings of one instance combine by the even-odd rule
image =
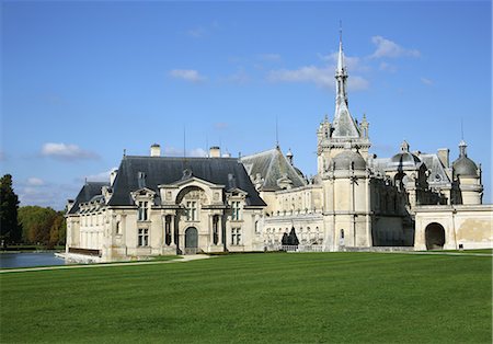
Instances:
[[[65,265],[53,252],[0,253],[0,268]]]

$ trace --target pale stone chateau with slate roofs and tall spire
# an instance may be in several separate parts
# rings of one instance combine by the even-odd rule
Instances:
[[[347,100],[342,42],[333,121],[317,129],[318,173],[307,179],[290,150],[252,156],[124,156],[110,183],[87,182],[68,202],[67,255],[108,262],[162,254],[279,250],[434,250],[492,246],[493,206],[482,204],[481,167],[459,144],[390,158],[369,152],[369,123]],[[287,246],[286,249],[293,249]]]

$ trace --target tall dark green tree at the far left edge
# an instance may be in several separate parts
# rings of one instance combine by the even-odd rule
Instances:
[[[12,175],[0,179],[0,239],[19,242],[21,228],[18,223],[19,197],[12,188]]]

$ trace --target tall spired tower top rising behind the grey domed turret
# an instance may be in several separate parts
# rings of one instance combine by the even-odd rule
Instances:
[[[357,124],[351,115],[347,98],[347,78],[341,31],[337,67],[335,69],[334,121],[330,123],[328,116],[325,116],[317,131],[319,175],[322,175],[328,170],[332,159],[345,148],[349,147],[351,150],[359,151],[363,158],[367,159],[368,149],[371,146],[366,116],[363,117],[360,124]]]

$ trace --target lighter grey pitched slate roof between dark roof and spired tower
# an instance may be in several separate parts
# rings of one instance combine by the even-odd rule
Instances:
[[[307,182],[299,175],[297,169],[287,161],[286,157],[276,147],[256,154],[241,158],[250,176],[255,180],[257,173],[264,179],[262,188],[264,191],[282,190],[277,181],[287,176],[293,182],[293,187],[307,185]]]

